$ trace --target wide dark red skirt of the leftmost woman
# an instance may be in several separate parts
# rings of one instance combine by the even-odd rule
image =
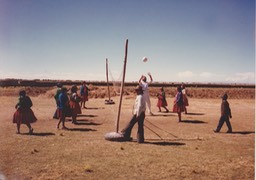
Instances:
[[[37,118],[32,111],[32,109],[17,109],[16,112],[13,115],[13,123],[16,124],[28,124],[28,123],[34,123],[37,121]]]

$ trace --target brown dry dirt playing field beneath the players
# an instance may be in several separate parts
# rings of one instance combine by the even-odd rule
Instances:
[[[114,105],[90,99],[78,124],[56,129],[53,98],[31,97],[38,118],[34,134],[25,125],[16,134],[12,123],[18,97],[0,96],[0,179],[254,179],[255,99],[229,99],[233,133],[214,133],[221,99],[189,98],[188,114],[160,113],[145,118],[145,143],[104,139],[114,132],[119,97]],[[173,98],[167,98],[172,109]],[[119,129],[131,118],[134,96],[123,98]]]

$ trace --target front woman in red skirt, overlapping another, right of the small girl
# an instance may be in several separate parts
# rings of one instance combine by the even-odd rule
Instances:
[[[177,94],[174,100],[173,112],[176,112],[178,114],[179,122],[181,122],[181,113],[184,112],[184,102],[181,86],[177,87]]]

